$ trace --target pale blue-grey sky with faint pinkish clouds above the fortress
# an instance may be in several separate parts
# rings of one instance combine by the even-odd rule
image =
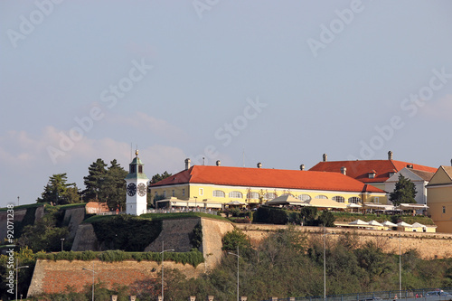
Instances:
[[[131,144],[193,164],[450,165],[451,1],[1,1],[0,206]]]

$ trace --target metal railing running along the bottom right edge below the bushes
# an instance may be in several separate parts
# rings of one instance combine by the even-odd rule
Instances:
[[[324,296],[303,296],[270,298],[263,301],[324,301]],[[356,293],[326,296],[325,301],[378,301],[378,300],[403,300],[403,301],[448,301],[452,300],[452,287],[446,288],[420,288],[410,290],[391,290],[372,293]]]

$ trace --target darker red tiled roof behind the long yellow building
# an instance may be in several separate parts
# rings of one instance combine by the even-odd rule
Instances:
[[[400,171],[407,165],[413,165],[413,169],[435,173],[437,168],[424,165],[415,165],[395,160],[356,160],[356,161],[326,161],[319,162],[310,171],[340,173],[341,167],[347,168],[347,175],[363,183],[382,183],[390,178],[390,173]],[[369,178],[369,171],[375,171],[375,177]]]

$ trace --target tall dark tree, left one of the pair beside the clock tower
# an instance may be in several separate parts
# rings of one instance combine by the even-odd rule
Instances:
[[[105,162],[100,158],[89,165],[88,175],[83,177],[86,186],[83,196],[86,201],[100,200],[102,198],[103,195],[100,192],[103,190],[103,183],[107,174],[106,166]]]

